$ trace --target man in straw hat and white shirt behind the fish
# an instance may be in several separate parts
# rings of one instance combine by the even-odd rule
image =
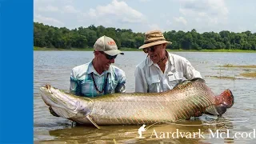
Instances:
[[[135,69],[135,92],[152,93],[172,90],[183,78],[202,78],[190,62],[166,51],[166,41],[159,30],[145,34],[144,45],[140,46],[147,55]]]

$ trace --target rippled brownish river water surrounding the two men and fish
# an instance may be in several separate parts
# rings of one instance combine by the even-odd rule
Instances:
[[[69,90],[70,70],[90,62],[92,51],[34,51],[34,143],[256,143],[256,78],[240,74],[255,68],[221,67],[223,65],[256,65],[256,54],[173,52],[187,58],[202,74],[216,95],[230,89],[234,106],[221,118],[202,115],[176,123],[146,126],[138,138],[140,126],[72,126],[70,120],[49,113],[39,87],[46,83]],[[114,65],[126,72],[126,92],[134,92],[134,68],[146,58],[140,51],[118,55]],[[227,76],[220,79],[211,76]]]

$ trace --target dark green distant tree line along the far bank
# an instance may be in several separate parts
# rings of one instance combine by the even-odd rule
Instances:
[[[47,26],[34,22],[34,46],[48,48],[92,48],[94,42],[102,35],[113,38],[118,47],[138,49],[144,41],[143,33],[114,27],[88,26],[69,30],[66,27]],[[164,32],[167,41],[172,42],[169,49],[183,50],[256,50],[256,33],[249,30],[234,33],[222,30],[219,33],[205,32],[199,34],[196,30],[184,32],[171,30]]]

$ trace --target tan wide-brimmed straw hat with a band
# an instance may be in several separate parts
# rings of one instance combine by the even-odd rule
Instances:
[[[166,41],[166,38],[163,36],[160,30],[153,30],[146,32],[144,45],[140,46],[138,49],[144,49],[146,47],[160,45],[162,43],[171,44],[172,42]]]

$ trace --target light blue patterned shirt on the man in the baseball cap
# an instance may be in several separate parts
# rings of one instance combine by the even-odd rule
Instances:
[[[91,74],[94,74],[94,81]],[[108,77],[107,74],[109,74]],[[102,93],[96,90],[94,82]],[[109,70],[98,74],[92,61],[74,67],[70,74],[70,93],[78,96],[96,97],[103,94],[125,92],[125,84],[126,75],[123,70],[117,66],[110,65]]]

